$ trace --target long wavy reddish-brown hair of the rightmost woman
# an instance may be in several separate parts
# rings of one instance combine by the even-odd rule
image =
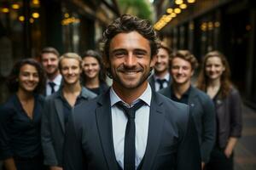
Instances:
[[[230,93],[230,89],[232,87],[232,83],[230,82],[230,65],[224,54],[220,53],[219,51],[209,52],[203,58],[201,71],[197,80],[197,88],[201,89],[204,92],[207,91],[208,77],[206,74],[206,63],[207,59],[211,57],[218,57],[225,67],[225,70],[220,77],[220,94],[222,98],[225,98]]]

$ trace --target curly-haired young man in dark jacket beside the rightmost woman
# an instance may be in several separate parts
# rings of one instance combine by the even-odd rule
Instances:
[[[160,90],[160,94],[190,106],[201,144],[201,166],[204,167],[215,141],[215,110],[212,99],[191,86],[197,65],[197,59],[188,50],[178,50],[170,61],[172,85]]]

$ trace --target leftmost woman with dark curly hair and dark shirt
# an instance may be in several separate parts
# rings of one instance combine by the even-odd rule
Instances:
[[[13,95],[0,107],[0,160],[7,170],[42,170],[41,111],[45,74],[34,59],[15,64],[8,80]]]

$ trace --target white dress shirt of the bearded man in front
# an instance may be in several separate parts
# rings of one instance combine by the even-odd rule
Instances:
[[[140,162],[143,160],[145,154],[147,140],[148,140],[148,122],[149,122],[149,111],[150,111],[150,101],[151,101],[152,91],[148,84],[148,87],[144,93],[138,98],[145,102],[140,109],[136,111],[135,116],[135,167],[139,166]],[[138,101],[136,99],[132,102],[132,107]],[[115,104],[122,99],[114,92],[113,88],[110,89],[110,102],[111,102],[111,112],[112,112],[112,127],[113,127],[113,147],[116,160],[119,163],[119,166],[124,168],[124,151],[125,151],[125,127],[128,122],[127,117],[125,116],[124,111],[120,110]],[[125,103],[123,101],[123,103]]]

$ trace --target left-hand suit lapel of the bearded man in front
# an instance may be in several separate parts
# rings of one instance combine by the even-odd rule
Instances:
[[[108,169],[118,170],[118,165],[113,149],[112,117],[109,90],[107,94],[102,95],[102,98],[99,99],[98,104],[100,106],[96,108],[96,121],[100,139],[102,141],[104,156],[108,162]]]

